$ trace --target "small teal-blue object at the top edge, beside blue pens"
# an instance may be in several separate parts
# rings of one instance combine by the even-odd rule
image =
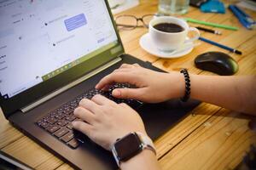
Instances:
[[[221,3],[218,0],[209,0],[207,3],[203,3],[200,9],[203,13],[225,14],[224,3]]]

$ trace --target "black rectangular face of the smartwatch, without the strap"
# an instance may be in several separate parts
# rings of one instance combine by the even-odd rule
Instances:
[[[130,133],[114,144],[119,161],[126,161],[143,150],[141,140],[136,133]]]

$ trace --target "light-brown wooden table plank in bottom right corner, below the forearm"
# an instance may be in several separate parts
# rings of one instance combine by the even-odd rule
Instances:
[[[162,169],[234,169],[256,144],[249,118],[221,110],[160,160]]]

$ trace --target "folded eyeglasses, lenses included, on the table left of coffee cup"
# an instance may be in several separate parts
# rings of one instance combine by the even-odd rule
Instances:
[[[145,14],[141,18],[137,18],[131,14],[119,15],[115,19],[115,23],[119,30],[133,30],[137,27],[148,28],[149,21],[154,19],[154,17],[159,16],[159,14]],[[138,25],[138,22],[142,21],[143,25]]]

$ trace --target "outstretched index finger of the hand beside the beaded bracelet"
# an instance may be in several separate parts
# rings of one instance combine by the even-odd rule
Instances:
[[[100,82],[96,85],[97,89],[101,89],[108,84],[113,82],[127,82],[130,84],[135,85],[136,77],[134,74],[130,72],[113,72],[107,77],[103,77]]]

